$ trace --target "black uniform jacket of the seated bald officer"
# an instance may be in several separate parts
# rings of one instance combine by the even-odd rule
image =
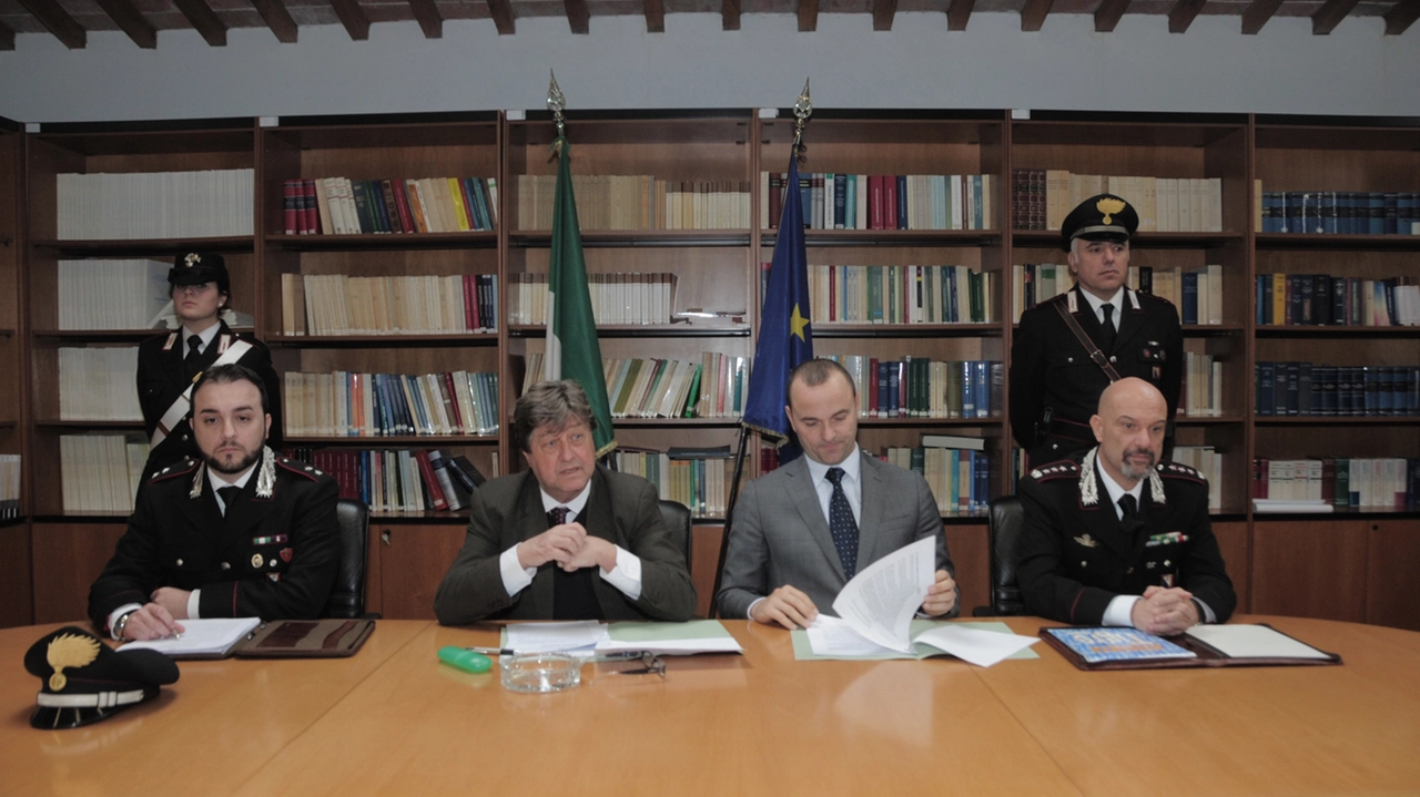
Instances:
[[[1041,465],[1021,476],[1025,509],[1017,577],[1025,608],[1061,623],[1098,625],[1115,596],[1143,594],[1150,586],[1183,587],[1223,623],[1237,594],[1223,566],[1208,522],[1208,482],[1177,462],[1157,467],[1163,501],[1145,482],[1139,515],[1145,528],[1126,533],[1109,492],[1091,465],[1093,450]],[[1093,501],[1088,495],[1093,481]]]

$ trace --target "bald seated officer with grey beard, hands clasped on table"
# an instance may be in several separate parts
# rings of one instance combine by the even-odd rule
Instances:
[[[1237,606],[1208,522],[1208,482],[1159,464],[1167,404],[1142,379],[1099,397],[1099,445],[1021,478],[1017,576],[1028,614],[1173,635]]]

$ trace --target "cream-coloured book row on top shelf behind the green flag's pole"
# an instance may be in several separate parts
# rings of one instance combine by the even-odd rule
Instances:
[[[574,174],[577,223],[588,230],[748,230],[750,183]],[[551,230],[557,174],[518,174],[518,230]]]

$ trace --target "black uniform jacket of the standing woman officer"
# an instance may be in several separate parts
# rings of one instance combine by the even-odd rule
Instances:
[[[217,362],[220,353],[222,336],[229,335],[230,342],[246,340],[251,343],[251,350],[237,360],[257,376],[261,377],[261,384],[267,391],[267,407],[271,411],[271,431],[267,434],[267,445],[273,451],[281,450],[281,377],[277,376],[275,369],[271,367],[271,352],[267,350],[266,345],[253,338],[251,335],[237,335],[231,332],[227,322],[219,322],[217,336],[212,339],[212,345],[207,346],[202,355],[199,355],[199,362],[203,369]],[[158,421],[162,420],[163,414],[168,413],[168,407],[172,407],[173,401],[182,396],[183,390],[192,384],[183,370],[182,363],[182,349],[183,343],[180,338],[186,335],[186,329],[179,328],[176,332],[176,339],[170,347],[168,346],[168,339],[173,338],[173,333],[159,335],[156,338],[149,338],[138,346],[138,400],[143,407],[143,430],[148,437],[153,437],[153,430],[158,428]],[[178,425],[168,433],[168,437],[158,444],[148,454],[148,465],[143,469],[145,478],[152,478],[159,469],[180,462],[187,457],[197,458],[202,454],[197,450],[197,442],[192,440],[192,427],[187,420],[183,418]]]

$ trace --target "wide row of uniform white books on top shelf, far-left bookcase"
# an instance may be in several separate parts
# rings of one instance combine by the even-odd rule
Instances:
[[[55,176],[61,241],[250,235],[251,169]]]

